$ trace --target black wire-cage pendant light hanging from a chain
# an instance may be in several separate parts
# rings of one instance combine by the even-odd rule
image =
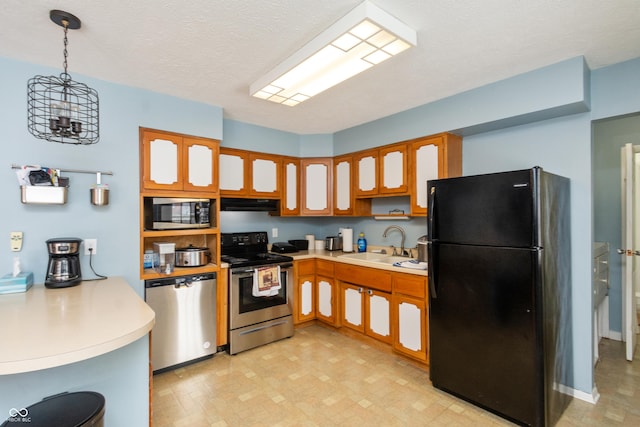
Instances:
[[[29,132],[36,138],[62,144],[90,145],[100,138],[98,92],[67,73],[67,31],[80,28],[80,19],[52,10],[49,17],[64,28],[64,72],[35,76],[28,82]]]

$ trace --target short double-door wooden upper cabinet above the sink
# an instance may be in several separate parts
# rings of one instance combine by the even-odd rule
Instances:
[[[353,155],[356,197],[408,194],[408,148],[387,145]]]

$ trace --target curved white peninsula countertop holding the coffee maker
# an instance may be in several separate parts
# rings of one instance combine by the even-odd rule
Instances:
[[[0,375],[99,356],[145,336],[155,313],[121,277],[0,295]]]

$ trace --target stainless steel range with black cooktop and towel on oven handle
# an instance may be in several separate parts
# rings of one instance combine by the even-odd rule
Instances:
[[[230,354],[293,335],[293,258],[267,245],[264,231],[221,235],[221,259],[230,266]]]

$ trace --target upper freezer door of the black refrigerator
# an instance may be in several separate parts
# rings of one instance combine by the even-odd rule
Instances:
[[[539,168],[429,181],[429,238],[446,243],[538,246]]]

